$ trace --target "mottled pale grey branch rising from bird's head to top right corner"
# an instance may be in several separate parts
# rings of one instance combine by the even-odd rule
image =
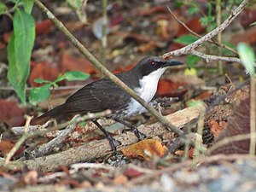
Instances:
[[[236,16],[241,13],[241,10],[245,8],[247,5],[248,0],[244,0],[241,2],[241,4],[234,10],[234,12],[231,13],[231,15],[224,20],[224,22],[212,30],[212,32],[208,32],[205,36],[202,38],[196,40],[194,43],[189,44],[182,49],[177,49],[172,52],[166,53],[162,55],[164,59],[171,58],[172,56],[179,56],[179,55],[189,55],[191,52],[195,50],[195,48],[199,47],[203,42],[206,42],[207,40],[211,39],[212,37],[216,36],[219,32],[224,31],[224,29],[230,25],[230,23],[235,20]]]

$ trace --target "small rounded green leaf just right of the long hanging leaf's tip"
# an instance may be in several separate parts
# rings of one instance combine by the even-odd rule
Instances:
[[[38,102],[43,102],[50,95],[50,84],[44,84],[41,87],[33,88],[29,93],[29,102],[32,105],[37,105]]]

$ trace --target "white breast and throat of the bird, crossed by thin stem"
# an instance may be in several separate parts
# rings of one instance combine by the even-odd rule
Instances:
[[[148,76],[143,77],[143,79],[140,79],[140,87],[136,88],[135,91],[137,95],[141,96],[145,102],[150,102],[154,97],[159,79],[161,75],[165,73],[165,71],[166,67],[160,68],[153,73],[149,73]],[[147,111],[139,102],[133,98],[131,98],[130,105],[126,109],[127,116]]]

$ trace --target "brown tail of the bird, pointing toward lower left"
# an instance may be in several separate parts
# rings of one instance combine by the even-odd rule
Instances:
[[[49,112],[42,114],[36,119],[32,119],[31,125],[44,124],[49,119],[61,117],[62,116],[61,111],[63,111],[62,110],[63,108],[64,108],[64,104],[49,110]]]

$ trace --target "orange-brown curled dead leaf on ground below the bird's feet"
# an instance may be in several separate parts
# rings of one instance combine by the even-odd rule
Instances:
[[[132,144],[127,148],[123,148],[121,151],[123,154],[125,154],[125,156],[128,157],[137,158],[140,156],[143,157],[143,159],[145,160],[150,160],[147,152],[145,153],[146,150],[152,156],[157,155],[161,157],[166,153],[167,148],[166,146],[163,146],[158,140],[146,139],[139,143]]]

